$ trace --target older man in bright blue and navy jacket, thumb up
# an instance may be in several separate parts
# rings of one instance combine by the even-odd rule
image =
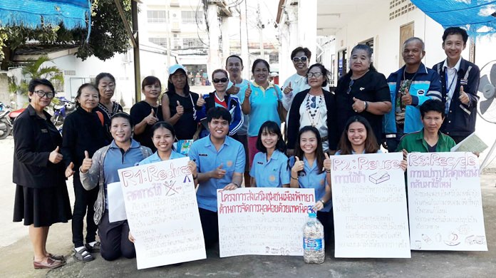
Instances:
[[[391,73],[388,86],[393,108],[384,115],[383,133],[388,151],[394,152],[403,134],[422,129],[418,108],[428,99],[441,101],[441,81],[438,73],[422,63],[425,45],[420,38],[408,38],[403,43],[405,66]]]

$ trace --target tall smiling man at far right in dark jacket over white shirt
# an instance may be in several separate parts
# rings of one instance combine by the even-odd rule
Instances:
[[[443,34],[443,49],[446,60],[433,66],[443,83],[446,120],[441,132],[450,135],[460,143],[475,131],[477,119],[477,89],[480,70],[475,64],[462,58],[467,46],[467,31],[460,27],[450,27]]]

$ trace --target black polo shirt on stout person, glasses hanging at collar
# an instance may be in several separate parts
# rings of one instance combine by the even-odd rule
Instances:
[[[361,101],[389,101],[391,102],[391,95],[389,93],[388,83],[386,76],[377,71],[368,71],[361,78],[355,79],[348,93],[348,88],[351,82],[351,74],[346,74],[341,77],[336,87],[336,119],[338,125],[338,134],[341,135],[345,128],[346,122],[353,115],[361,115],[368,120],[371,124],[373,132],[376,134],[378,144],[382,140],[382,121],[383,115],[374,115],[367,111],[356,113],[351,105],[353,105],[353,98],[358,98]]]

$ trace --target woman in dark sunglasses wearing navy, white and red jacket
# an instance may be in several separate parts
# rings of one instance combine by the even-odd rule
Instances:
[[[207,112],[209,109],[214,107],[222,107],[229,110],[231,113],[231,123],[229,123],[229,136],[236,138],[236,133],[239,128],[243,125],[243,114],[241,110],[241,103],[239,103],[239,98],[234,95],[229,95],[226,93],[227,84],[229,79],[227,78],[227,71],[219,68],[212,73],[212,82],[214,83],[215,91],[209,93],[208,95],[198,98],[197,106],[201,107],[198,110],[197,118],[200,119],[202,125],[198,127],[197,133],[195,135],[197,138],[204,138],[209,134],[209,128],[207,123]]]

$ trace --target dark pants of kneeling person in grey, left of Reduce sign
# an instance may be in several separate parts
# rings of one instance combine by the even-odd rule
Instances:
[[[128,235],[128,220],[110,223],[108,222],[108,210],[105,210],[102,221],[98,225],[100,254],[103,259],[113,261],[121,255],[128,259],[136,257],[136,249],[133,242],[128,240]]]

